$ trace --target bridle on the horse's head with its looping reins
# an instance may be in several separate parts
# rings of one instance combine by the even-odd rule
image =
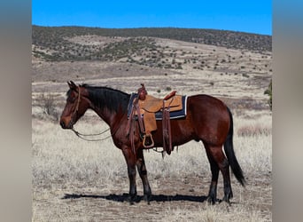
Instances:
[[[77,99],[77,105],[76,105],[76,107],[75,107],[75,109],[74,109],[74,112],[73,112],[72,118],[71,118],[71,119],[72,119],[72,123],[73,123],[73,126],[72,126],[71,130],[74,131],[74,134],[76,134],[76,136],[77,136],[78,138],[84,139],[84,140],[86,140],[86,141],[102,141],[102,140],[109,139],[109,138],[113,137],[113,135],[119,130],[119,127],[118,127],[113,133],[111,133],[111,135],[109,135],[109,136],[107,136],[107,137],[105,137],[105,138],[103,138],[103,139],[86,139],[85,137],[91,137],[91,136],[102,135],[102,134],[104,134],[106,131],[109,131],[111,128],[108,128],[108,129],[106,129],[105,131],[101,131],[101,132],[99,132],[99,133],[91,133],[91,134],[83,134],[83,133],[81,133],[81,132],[79,132],[79,131],[74,130],[74,122],[75,122],[74,120],[75,120],[76,115],[77,115],[77,113],[78,113],[79,104],[80,104],[80,99],[81,99],[80,86],[77,86],[77,88],[78,88],[78,99]]]

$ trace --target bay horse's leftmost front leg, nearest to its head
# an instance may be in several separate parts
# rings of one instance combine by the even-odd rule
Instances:
[[[128,164],[129,202],[133,204],[136,200],[136,157],[130,147],[122,148],[122,153]]]

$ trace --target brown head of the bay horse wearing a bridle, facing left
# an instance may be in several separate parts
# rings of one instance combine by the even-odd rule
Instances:
[[[88,91],[82,86],[76,85],[73,81],[67,82],[69,91],[67,91],[66,107],[60,117],[60,125],[63,129],[73,129],[82,115],[89,108]]]

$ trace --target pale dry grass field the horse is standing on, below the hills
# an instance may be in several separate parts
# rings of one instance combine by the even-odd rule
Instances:
[[[151,205],[127,202],[126,163],[112,139],[88,142],[56,123],[33,120],[33,221],[268,221],[271,219],[270,116],[236,118],[238,160],[245,171],[243,188],[232,176],[234,198],[208,206],[210,170],[201,143],[190,142],[172,155],[145,151],[154,197]],[[235,124],[236,124],[235,123]],[[81,131],[100,131],[103,123],[78,123]],[[138,194],[143,196],[137,178]],[[218,197],[222,198],[222,181]]]

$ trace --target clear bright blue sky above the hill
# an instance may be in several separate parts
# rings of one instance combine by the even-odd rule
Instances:
[[[99,28],[214,28],[272,35],[272,2],[32,0],[32,24]]]

